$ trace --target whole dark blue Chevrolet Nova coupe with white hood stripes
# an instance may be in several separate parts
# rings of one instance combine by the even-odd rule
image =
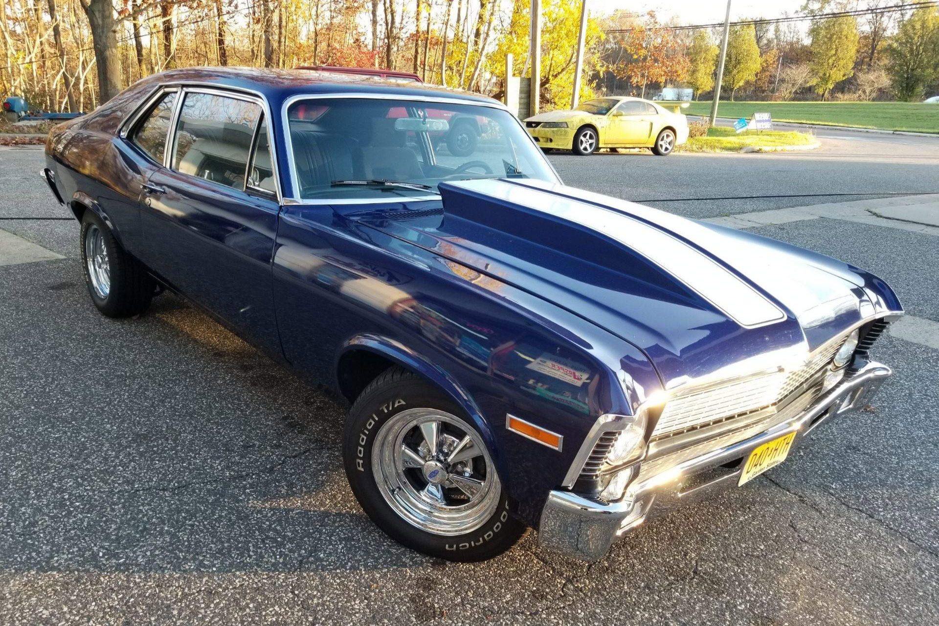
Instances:
[[[451,153],[469,120],[479,141]],[[602,557],[891,374],[869,354],[902,314],[885,282],[566,187],[492,99],[179,69],[55,127],[46,156],[100,312],[169,288],[333,389],[362,509],[428,555],[535,527]]]

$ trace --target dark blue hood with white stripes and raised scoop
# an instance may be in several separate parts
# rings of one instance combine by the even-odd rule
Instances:
[[[439,222],[365,221],[636,345],[667,388],[749,374],[767,355],[806,359],[865,319],[901,312],[870,273],[773,239],[528,179],[439,190]]]

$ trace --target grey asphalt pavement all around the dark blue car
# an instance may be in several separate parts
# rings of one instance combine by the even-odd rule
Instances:
[[[551,160],[568,184],[719,218],[939,192],[934,144]],[[939,237],[881,218],[754,228],[869,268],[925,328],[879,341],[896,375],[870,410],[593,565],[534,533],[454,564],[360,510],[343,407],[179,298],[97,313],[41,151],[0,151],[0,229],[55,256],[0,265],[0,623],[939,623]]]

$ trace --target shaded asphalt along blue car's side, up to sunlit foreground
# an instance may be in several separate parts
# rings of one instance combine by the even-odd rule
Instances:
[[[408,567],[346,483],[346,409],[171,294],[102,317],[75,259],[0,274],[0,569]],[[7,367],[7,365],[9,367]]]

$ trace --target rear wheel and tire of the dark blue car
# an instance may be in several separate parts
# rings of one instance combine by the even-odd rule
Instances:
[[[153,279],[90,209],[82,216],[80,240],[85,283],[98,310],[108,317],[144,313],[156,291]]]

